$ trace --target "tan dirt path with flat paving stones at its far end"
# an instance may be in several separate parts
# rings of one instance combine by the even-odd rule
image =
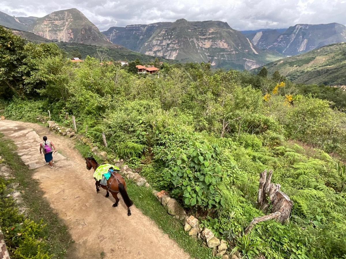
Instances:
[[[24,163],[35,169],[34,178],[45,197],[70,229],[77,258],[100,258],[101,252],[104,258],[190,258],[135,206],[128,217],[121,197],[119,206],[112,208],[113,198],[105,198],[104,190],[96,193],[92,171],[85,168],[73,140],[33,123],[0,121],[0,131],[16,143]],[[54,169],[39,153],[43,136],[61,153],[53,156]]]

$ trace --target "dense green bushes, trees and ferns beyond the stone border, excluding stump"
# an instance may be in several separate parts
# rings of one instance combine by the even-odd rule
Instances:
[[[278,73],[187,63],[165,64],[157,78],[90,57],[74,66],[55,44],[0,33],[6,116],[35,121],[49,109],[71,126],[73,114],[100,148],[104,132],[109,159],[126,159],[169,190],[244,257],[346,257],[345,167],[328,155],[346,158],[346,116],[329,101],[297,94]],[[263,215],[256,197],[265,169],[294,202],[292,215],[243,235]]]

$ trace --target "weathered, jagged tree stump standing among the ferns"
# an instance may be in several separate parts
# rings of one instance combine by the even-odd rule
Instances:
[[[283,223],[288,220],[292,210],[293,202],[290,198],[280,191],[280,184],[271,183],[273,171],[270,170],[267,177],[267,170],[260,174],[260,187],[258,188],[257,202],[260,209],[267,212],[272,205],[271,213],[280,212],[277,221]]]

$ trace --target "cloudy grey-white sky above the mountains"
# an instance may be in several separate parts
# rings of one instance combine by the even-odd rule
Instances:
[[[287,28],[297,23],[346,25],[346,0],[0,0],[0,11],[43,17],[77,8],[100,30],[138,23],[221,20],[237,30]]]

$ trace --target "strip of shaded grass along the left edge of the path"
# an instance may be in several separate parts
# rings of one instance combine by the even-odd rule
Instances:
[[[54,255],[53,258],[68,258],[73,252],[73,240],[68,232],[67,227],[58,215],[49,206],[49,202],[44,198],[44,192],[40,189],[38,182],[32,178],[34,170],[29,170],[28,167],[20,160],[17,155],[16,145],[3,137],[0,133],[0,154],[5,160],[15,179],[11,183],[18,183],[17,190],[21,191],[21,197],[25,203],[25,207],[29,208],[28,218],[35,222],[47,224],[46,240],[50,245],[50,252]]]

